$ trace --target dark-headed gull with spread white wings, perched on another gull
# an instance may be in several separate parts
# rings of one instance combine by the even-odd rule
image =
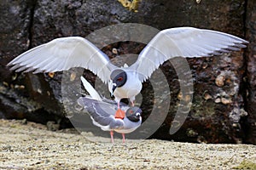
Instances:
[[[166,60],[230,53],[246,48],[246,43],[239,37],[220,31],[193,27],[171,28],[160,31],[148,42],[133,65],[119,68],[83,37],[61,37],[20,54],[8,65],[13,65],[11,70],[34,73],[84,67],[94,72],[102,82],[108,83],[108,89],[118,104],[120,99],[128,98],[134,105],[142,82]]]

